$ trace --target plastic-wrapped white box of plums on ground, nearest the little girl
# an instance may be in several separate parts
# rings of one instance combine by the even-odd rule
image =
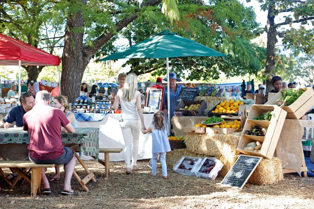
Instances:
[[[174,165],[173,170],[178,174],[194,176],[191,170],[198,164],[200,164],[202,158],[182,156]]]

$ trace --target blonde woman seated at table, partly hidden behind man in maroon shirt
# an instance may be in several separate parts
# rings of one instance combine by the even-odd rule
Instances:
[[[64,96],[60,95],[60,96],[54,97],[52,107],[55,107],[61,110],[74,128],[78,127],[76,124],[75,116],[73,112],[71,112],[71,106],[69,105],[68,100]],[[48,178],[49,182],[60,179],[60,165],[57,165],[55,169],[56,169],[56,174]]]

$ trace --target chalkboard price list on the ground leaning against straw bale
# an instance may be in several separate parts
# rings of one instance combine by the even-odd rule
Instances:
[[[262,157],[240,155],[221,184],[242,189],[261,160]]]

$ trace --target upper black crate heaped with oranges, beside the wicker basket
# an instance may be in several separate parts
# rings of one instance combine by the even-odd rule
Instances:
[[[233,99],[230,99],[229,101],[225,100],[216,107],[214,107],[212,110],[208,112],[208,117],[216,115],[217,117],[220,117],[220,115],[238,115],[239,111],[239,105],[244,105],[243,102]]]

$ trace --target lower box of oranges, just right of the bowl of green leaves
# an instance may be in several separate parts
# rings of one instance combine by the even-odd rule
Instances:
[[[222,134],[229,134],[233,132],[240,132],[241,126],[243,123],[243,119],[241,116],[238,117],[239,119],[225,119],[224,122],[220,123],[219,125],[214,125],[211,127],[206,128],[206,133],[222,133]]]

